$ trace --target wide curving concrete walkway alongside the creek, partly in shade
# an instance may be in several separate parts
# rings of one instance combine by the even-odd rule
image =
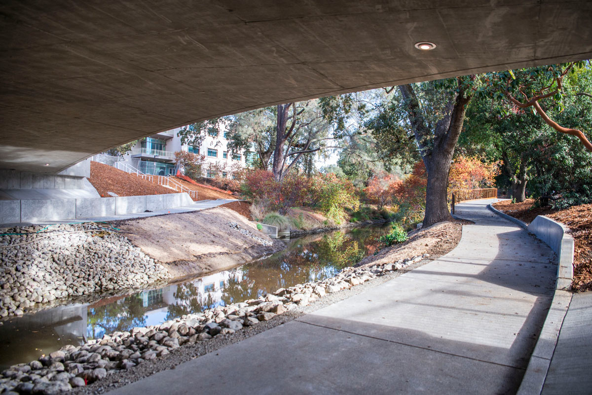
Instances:
[[[554,291],[545,244],[487,210],[439,260],[109,394],[513,394]]]

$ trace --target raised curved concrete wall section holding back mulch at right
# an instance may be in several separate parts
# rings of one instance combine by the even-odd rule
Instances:
[[[567,234],[567,228],[539,215],[528,225],[528,231],[544,241],[559,257],[557,289],[571,289],[574,278],[574,238]]]

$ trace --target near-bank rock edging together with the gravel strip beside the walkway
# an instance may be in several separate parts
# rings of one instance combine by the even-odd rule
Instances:
[[[161,325],[114,332],[78,347],[67,345],[2,372],[0,393],[49,395],[72,388],[79,393],[102,393],[124,386],[384,283],[427,263],[427,256],[365,268],[348,267],[330,279],[296,284],[258,299],[185,315]],[[86,387],[91,383],[95,384]]]

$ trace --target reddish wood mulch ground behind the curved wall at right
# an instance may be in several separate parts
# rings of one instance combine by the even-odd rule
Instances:
[[[574,280],[578,291],[592,290],[592,205],[572,206],[565,210],[551,207],[533,208],[535,200],[511,204],[510,200],[494,203],[494,207],[524,222],[532,222],[537,215],[546,215],[570,228],[574,238]]]

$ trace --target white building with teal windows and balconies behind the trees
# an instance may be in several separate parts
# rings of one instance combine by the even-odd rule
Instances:
[[[175,128],[165,132],[159,132],[145,137],[131,149],[125,158],[130,160],[133,167],[144,174],[156,174],[159,176],[175,175],[175,152],[185,151],[205,156],[207,163],[215,164],[222,169],[220,176],[227,177],[233,167],[245,167],[247,160],[251,160],[255,153],[231,155],[227,147],[226,133],[220,135],[207,135],[199,147],[195,145],[181,144],[181,137],[177,133],[181,128]],[[233,166],[234,165],[234,166]],[[204,177],[214,177],[214,170],[210,166],[204,166]]]

